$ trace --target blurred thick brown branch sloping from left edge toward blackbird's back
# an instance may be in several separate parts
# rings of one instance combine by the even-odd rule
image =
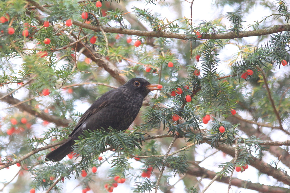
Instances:
[[[0,98],[4,96],[3,94],[0,93]],[[1,101],[7,102],[8,104],[17,104],[20,103],[21,101],[12,97],[11,95],[8,95],[4,97]],[[34,115],[36,117],[41,118],[42,120],[46,120],[48,122],[55,123],[57,126],[68,126],[68,124],[71,122],[70,120],[67,120],[66,118],[59,118],[54,115],[50,115],[48,113],[44,113],[44,111],[36,111],[32,106],[28,104],[19,104],[16,106],[20,111],[26,111],[30,113],[31,115]]]

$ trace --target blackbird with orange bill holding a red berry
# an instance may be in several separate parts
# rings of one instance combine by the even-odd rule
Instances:
[[[132,78],[123,86],[111,90],[98,98],[81,116],[68,141],[46,155],[46,161],[60,161],[70,152],[75,140],[84,130],[126,130],[133,123],[150,91],[159,90],[158,84],[150,84],[144,78]]]

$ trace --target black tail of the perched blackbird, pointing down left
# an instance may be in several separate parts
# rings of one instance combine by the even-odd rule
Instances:
[[[73,139],[70,138],[68,141],[66,141],[64,144],[50,152],[49,154],[46,155],[45,160],[46,161],[60,161],[66,155],[68,155],[70,152],[72,152],[72,142]]]

